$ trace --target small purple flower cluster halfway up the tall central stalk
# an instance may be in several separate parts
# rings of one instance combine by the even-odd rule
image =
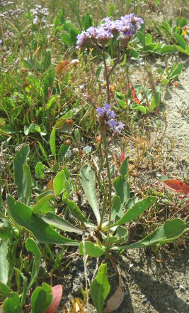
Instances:
[[[115,129],[115,132],[120,132],[123,129],[124,124],[115,120],[115,112],[111,110],[111,106],[107,103],[105,103],[103,107],[98,107],[96,112],[98,113],[98,117],[102,124],[105,125],[105,127]]]

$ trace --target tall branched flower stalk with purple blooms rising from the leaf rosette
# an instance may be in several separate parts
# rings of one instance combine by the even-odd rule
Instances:
[[[105,208],[108,205],[109,207],[109,218],[108,218],[108,235],[110,234],[110,221],[111,221],[111,213],[112,213],[112,180],[110,174],[110,162],[108,159],[109,155],[109,144],[112,141],[115,134],[118,134],[122,131],[124,124],[122,122],[118,122],[115,118],[115,112],[111,110],[110,104],[110,76],[115,70],[116,66],[120,63],[122,59],[122,52],[127,48],[127,45],[137,33],[137,30],[140,28],[140,24],[143,23],[142,18],[137,18],[134,14],[130,14],[127,16],[122,16],[120,19],[112,20],[110,17],[104,18],[103,22],[100,26],[93,27],[91,26],[86,31],[83,31],[77,36],[77,48],[95,48],[98,54],[101,56],[103,60],[104,66],[104,74],[106,81],[106,97],[107,103],[103,105],[103,107],[98,107],[96,102],[89,96],[86,95],[86,98],[91,102],[93,107],[96,108],[96,112],[98,114],[100,126],[101,126],[101,147],[103,143],[104,147],[104,156],[101,153],[101,165],[98,172],[98,182],[101,183],[101,170],[103,169],[104,162],[106,164],[107,174],[108,174],[108,192],[103,181],[103,210],[101,213],[101,221],[99,223],[98,228],[101,230],[103,225],[103,218],[105,214]],[[117,49],[118,54],[114,60],[114,64],[112,68],[108,68],[107,61],[105,59],[105,48],[110,44],[110,41],[115,38],[117,41]],[[84,93],[84,87],[82,87],[82,91]],[[108,142],[107,140],[107,132],[113,129],[113,135]],[[102,190],[102,184],[100,184]],[[108,201],[107,201],[107,193],[108,193]]]

